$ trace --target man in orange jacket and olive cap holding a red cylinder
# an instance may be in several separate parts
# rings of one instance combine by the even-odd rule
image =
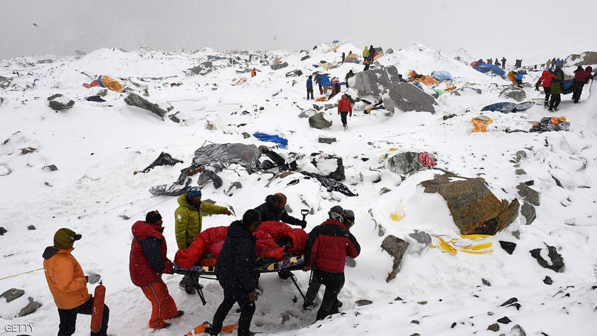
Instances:
[[[73,243],[81,239],[73,230],[60,229],[54,235],[54,246],[45,248],[44,272],[48,287],[58,307],[60,325],[58,336],[70,336],[75,332],[77,314],[91,315],[93,296],[87,291],[87,283],[99,282],[101,276],[96,273],[84,275],[81,265],[72,252]],[[91,336],[106,336],[109,309],[104,304],[103,319],[99,332]]]

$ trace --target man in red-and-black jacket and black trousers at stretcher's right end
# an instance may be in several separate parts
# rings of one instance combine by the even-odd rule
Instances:
[[[361,246],[346,227],[349,221],[344,209],[336,205],[328,214],[330,218],[309,233],[304,254],[303,270],[313,267],[315,283],[325,286],[324,299],[317,312],[318,320],[338,312],[338,293],[344,286],[346,256],[356,258],[361,252]]]

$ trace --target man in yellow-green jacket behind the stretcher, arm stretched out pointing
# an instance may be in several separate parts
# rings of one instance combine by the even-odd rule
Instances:
[[[179,207],[174,211],[174,232],[179,249],[186,249],[201,233],[204,215],[232,215],[226,206],[201,202],[201,189],[192,188],[180,195]],[[188,294],[195,294],[195,284],[190,276],[180,280],[180,288]]]

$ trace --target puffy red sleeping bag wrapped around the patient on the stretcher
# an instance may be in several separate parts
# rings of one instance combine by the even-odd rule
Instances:
[[[227,226],[211,227],[196,236],[189,248],[176,252],[174,263],[184,269],[197,264],[215,266],[226,241]],[[285,255],[301,255],[307,243],[307,233],[279,221],[265,221],[253,233],[258,258],[280,260]]]

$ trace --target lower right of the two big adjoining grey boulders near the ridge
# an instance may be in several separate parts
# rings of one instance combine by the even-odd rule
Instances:
[[[383,95],[386,110],[395,112],[431,112],[435,113],[435,99],[413,84],[398,82],[392,84],[387,94]]]

